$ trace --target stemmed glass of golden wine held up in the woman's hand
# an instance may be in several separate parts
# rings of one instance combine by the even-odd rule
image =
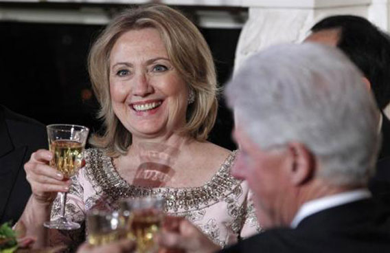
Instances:
[[[59,170],[65,179],[69,179],[82,167],[84,146],[87,142],[88,133],[89,129],[87,127],[74,124],[50,124],[47,126],[49,150],[54,155],[50,161],[50,166]],[[80,228],[80,224],[69,221],[65,217],[67,192],[59,192],[59,194],[60,217],[54,221],[46,221],[43,225],[46,228],[58,230],[75,230]]]

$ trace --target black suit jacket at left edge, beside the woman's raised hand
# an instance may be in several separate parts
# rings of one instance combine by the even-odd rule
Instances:
[[[23,166],[39,148],[48,148],[45,126],[0,105],[0,223],[21,216],[31,195]]]

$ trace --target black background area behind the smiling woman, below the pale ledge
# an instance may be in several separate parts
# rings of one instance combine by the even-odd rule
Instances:
[[[44,124],[71,123],[98,131],[87,54],[101,25],[0,22],[0,103]],[[240,29],[200,29],[223,85],[233,69]],[[209,140],[234,149],[231,112],[220,98]]]

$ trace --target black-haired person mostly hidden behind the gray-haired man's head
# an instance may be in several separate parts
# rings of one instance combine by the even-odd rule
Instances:
[[[375,197],[390,204],[390,120],[383,109],[390,102],[390,38],[375,25],[352,15],[327,17],[316,23],[305,41],[338,47],[363,73],[382,111],[382,145],[376,174],[369,188]]]

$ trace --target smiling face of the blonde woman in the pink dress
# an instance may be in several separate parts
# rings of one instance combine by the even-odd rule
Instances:
[[[187,85],[154,28],[130,30],[116,41],[110,93],[115,115],[133,137],[169,135],[185,124]]]

